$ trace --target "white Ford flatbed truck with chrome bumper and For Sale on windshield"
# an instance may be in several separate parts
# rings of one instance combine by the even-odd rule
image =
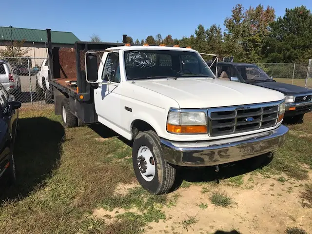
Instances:
[[[177,166],[230,163],[285,141],[283,94],[217,79],[191,48],[75,48],[77,78],[50,80],[56,113],[66,127],[99,122],[132,140],[137,180],[153,194],[171,189]]]

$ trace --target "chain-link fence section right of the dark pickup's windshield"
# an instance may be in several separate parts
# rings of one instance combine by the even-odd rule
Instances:
[[[257,65],[277,81],[305,86],[309,63],[259,63]]]

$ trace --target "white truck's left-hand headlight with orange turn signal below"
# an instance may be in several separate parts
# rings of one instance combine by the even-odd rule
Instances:
[[[170,133],[207,133],[205,112],[179,112],[168,114],[167,131]]]

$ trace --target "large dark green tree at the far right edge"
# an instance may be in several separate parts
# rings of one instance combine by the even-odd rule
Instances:
[[[312,56],[312,14],[305,6],[286,9],[271,23],[263,45],[268,62],[306,62]]]

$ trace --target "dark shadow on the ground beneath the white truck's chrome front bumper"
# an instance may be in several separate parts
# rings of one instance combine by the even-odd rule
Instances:
[[[215,166],[211,167],[178,167],[174,189],[177,189],[183,180],[188,182],[219,182],[219,179],[226,179],[234,176],[243,175],[256,169],[261,169],[272,161],[273,157],[268,158],[268,154],[240,160],[234,163],[219,165],[216,172]]]

